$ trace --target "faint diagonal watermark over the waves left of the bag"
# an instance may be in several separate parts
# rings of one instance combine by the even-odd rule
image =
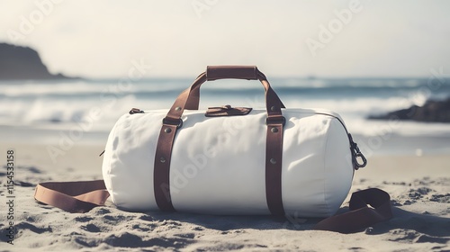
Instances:
[[[57,162],[59,156],[64,156],[66,152],[73,148],[77,141],[83,138],[85,132],[92,130],[95,121],[99,121],[104,111],[111,109],[120,98],[120,94],[130,91],[134,82],[139,81],[152,67],[144,62],[144,58],[139,61],[131,60],[131,66],[127,77],[121,78],[115,85],[109,85],[103,89],[99,99],[101,106],[92,107],[84,120],[78,120],[76,125],[72,126],[68,132],[59,131],[60,139],[58,145],[48,145],[47,152],[53,163]]]

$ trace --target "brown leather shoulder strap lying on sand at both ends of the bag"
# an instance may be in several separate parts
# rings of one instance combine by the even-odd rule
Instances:
[[[103,180],[94,180],[41,183],[34,198],[64,211],[86,212],[103,206],[109,195]],[[321,220],[314,229],[351,233],[392,218],[391,198],[377,188],[353,193],[349,208],[346,213]]]

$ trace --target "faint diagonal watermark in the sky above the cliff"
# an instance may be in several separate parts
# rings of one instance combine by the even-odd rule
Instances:
[[[19,25],[17,30],[9,29],[6,31],[8,38],[14,42],[23,40],[27,35],[30,35],[35,30],[36,26],[43,23],[45,18],[53,13],[55,6],[61,4],[63,0],[36,0],[34,1],[35,8],[28,14],[28,16],[19,16]]]

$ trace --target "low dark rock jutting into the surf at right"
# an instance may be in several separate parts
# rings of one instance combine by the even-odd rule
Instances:
[[[383,115],[370,115],[368,119],[450,122],[450,98],[445,101],[429,100],[421,107],[413,105]]]

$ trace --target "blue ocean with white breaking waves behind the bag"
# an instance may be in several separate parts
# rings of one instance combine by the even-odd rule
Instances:
[[[435,122],[368,120],[377,115],[450,97],[450,79],[269,78],[287,108],[338,112],[370,155],[450,153],[450,125]],[[58,144],[72,140],[103,144],[109,130],[131,108],[168,109],[192,78],[139,81],[77,79],[1,81],[0,138],[4,142]],[[265,106],[257,81],[220,80],[202,85],[201,108]]]

